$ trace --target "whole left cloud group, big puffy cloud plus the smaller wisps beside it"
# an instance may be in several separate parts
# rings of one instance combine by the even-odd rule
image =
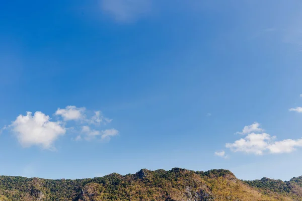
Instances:
[[[111,119],[103,117],[101,111],[96,111],[95,115],[89,119],[86,117],[85,108],[67,106],[65,109],[58,109],[54,115],[61,116],[64,121],[51,121],[51,118],[42,112],[36,112],[34,115],[27,112],[26,116],[18,116],[11,125],[0,128],[0,134],[3,130],[11,129],[23,147],[38,145],[44,149],[54,149],[53,143],[66,132],[77,134],[71,138],[74,141],[81,141],[82,138],[109,141],[111,137],[118,135],[115,129],[99,131],[90,127],[111,122]],[[65,127],[65,121],[70,120],[80,121],[77,121],[73,127]]]

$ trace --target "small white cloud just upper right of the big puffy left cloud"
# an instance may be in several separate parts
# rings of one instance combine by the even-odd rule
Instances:
[[[64,121],[84,119],[85,108],[77,108],[75,106],[67,106],[65,109],[58,109],[55,115],[62,116]]]

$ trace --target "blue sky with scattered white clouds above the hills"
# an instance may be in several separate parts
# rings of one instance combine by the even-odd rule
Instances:
[[[300,1],[1,5],[1,175],[302,175]]]

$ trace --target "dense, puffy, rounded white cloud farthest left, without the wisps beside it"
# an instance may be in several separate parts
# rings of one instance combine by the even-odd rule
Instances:
[[[52,149],[53,142],[66,132],[60,122],[51,122],[50,117],[41,112],[36,112],[34,116],[31,112],[27,112],[26,116],[19,115],[9,127],[23,147],[40,145],[44,149]]]

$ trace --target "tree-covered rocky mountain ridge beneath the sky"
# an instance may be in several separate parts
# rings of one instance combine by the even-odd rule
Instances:
[[[0,176],[0,200],[302,200],[302,177],[243,181],[229,170],[181,168],[75,180]]]

